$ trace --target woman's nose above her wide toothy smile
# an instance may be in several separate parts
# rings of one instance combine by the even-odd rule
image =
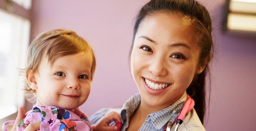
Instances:
[[[150,66],[148,71],[151,72],[154,76],[166,76],[168,71],[165,67],[165,59],[163,57],[154,57],[150,61]]]

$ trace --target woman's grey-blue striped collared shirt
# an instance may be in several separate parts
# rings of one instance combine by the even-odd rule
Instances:
[[[182,110],[185,101],[186,93],[184,93],[179,100],[169,107],[147,115],[144,124],[141,125],[138,131],[163,131],[167,123],[172,125],[173,121]],[[103,108],[102,110],[99,110],[93,114],[89,119],[91,124],[96,124],[98,120],[105,114],[108,114],[111,111],[116,111],[120,114],[123,123],[120,131],[125,131],[129,126],[130,117],[133,115],[139,104],[140,94],[136,94],[127,100],[122,108]],[[172,128],[174,128],[174,126],[172,126]],[[186,114],[186,117],[184,118],[183,123],[179,126],[178,131],[205,131],[194,109]]]

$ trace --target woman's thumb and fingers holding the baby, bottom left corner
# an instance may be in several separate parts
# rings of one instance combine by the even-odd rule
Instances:
[[[16,131],[17,124],[25,118],[25,110],[23,107],[18,108],[18,115],[16,117],[16,120],[14,122],[13,127],[11,128],[11,131]],[[24,131],[35,131],[40,128],[41,121],[33,122],[28,125],[28,127],[25,128]]]

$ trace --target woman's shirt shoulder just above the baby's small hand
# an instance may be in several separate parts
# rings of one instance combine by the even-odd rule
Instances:
[[[121,107],[120,108],[102,108],[97,112],[95,112],[94,114],[92,114],[91,117],[89,117],[90,123],[96,124],[98,120],[100,120],[103,116],[105,116],[106,114],[109,114],[110,112],[117,112],[120,114],[121,110],[122,110]]]

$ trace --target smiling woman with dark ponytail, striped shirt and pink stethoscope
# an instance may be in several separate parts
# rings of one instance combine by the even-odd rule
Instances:
[[[137,15],[130,50],[130,70],[139,94],[122,109],[96,112],[91,123],[118,110],[122,131],[205,131],[211,31],[210,15],[197,1],[150,0]]]

